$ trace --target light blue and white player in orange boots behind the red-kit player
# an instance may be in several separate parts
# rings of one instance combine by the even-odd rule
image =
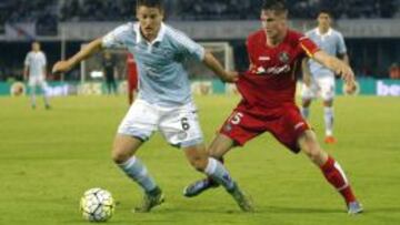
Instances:
[[[343,35],[331,28],[331,16],[321,10],[318,14],[318,27],[306,34],[328,54],[339,57],[349,64],[349,57]],[[323,101],[323,119],[326,125],[327,144],[333,144],[333,98],[334,98],[334,73],[328,68],[313,60],[304,60],[302,63],[303,86],[301,113],[304,119],[309,117],[310,104],[313,99],[320,96]]]

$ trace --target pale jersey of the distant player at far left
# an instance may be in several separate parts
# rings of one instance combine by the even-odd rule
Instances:
[[[29,69],[29,78],[44,78],[44,67],[47,64],[43,52],[29,52],[24,60],[24,65]]]

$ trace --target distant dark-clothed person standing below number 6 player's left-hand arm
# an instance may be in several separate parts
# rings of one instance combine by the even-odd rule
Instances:
[[[107,93],[117,94],[117,63],[109,51],[104,51],[103,55],[103,74],[106,76]]]

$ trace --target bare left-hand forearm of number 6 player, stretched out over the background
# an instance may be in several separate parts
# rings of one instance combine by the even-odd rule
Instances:
[[[96,52],[99,52],[102,49],[102,40],[96,39],[94,41],[90,42],[87,47],[84,47],[82,50],[80,50],[77,54],[71,57],[68,60],[59,61],[54,64],[52,68],[52,72],[67,72],[71,70],[76,64],[81,62],[82,60],[91,57]]]

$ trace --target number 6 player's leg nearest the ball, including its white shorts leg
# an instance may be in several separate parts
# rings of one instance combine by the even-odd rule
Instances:
[[[144,191],[134,212],[146,213],[163,202],[163,195],[146,165],[134,155],[157,127],[158,114],[144,101],[136,101],[121,122],[112,147],[114,163]]]

